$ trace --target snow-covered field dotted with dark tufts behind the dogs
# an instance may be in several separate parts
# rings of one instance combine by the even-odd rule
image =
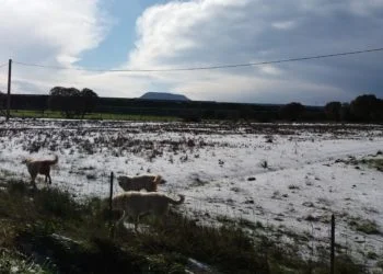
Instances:
[[[198,221],[262,224],[265,233],[272,227],[274,232],[306,236],[305,244],[318,252],[317,246],[328,242],[334,213],[339,244],[364,252],[363,258],[368,252],[382,256],[383,172],[360,163],[383,157],[382,129],[14,119],[0,123],[0,176],[27,183],[24,158],[58,155],[55,186],[77,197],[107,197],[111,172],[161,174],[167,183],[160,191],[185,194],[182,210]],[[43,178],[38,187],[44,187]],[[356,231],[368,221],[380,232],[364,237]]]

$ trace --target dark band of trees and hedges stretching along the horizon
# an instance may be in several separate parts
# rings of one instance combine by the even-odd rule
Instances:
[[[5,94],[0,93],[0,109]],[[258,122],[357,122],[382,123],[383,100],[374,94],[357,96],[349,103],[328,102],[325,106],[305,106],[299,102],[286,105],[218,103],[204,101],[148,101],[139,99],[98,98],[91,89],[55,87],[48,95],[12,95],[12,109],[59,111],[67,118],[83,118],[86,113],[116,113],[178,116],[185,121],[246,119]],[[1,100],[3,99],[3,100]]]

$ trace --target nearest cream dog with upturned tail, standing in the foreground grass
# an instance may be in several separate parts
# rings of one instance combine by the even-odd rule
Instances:
[[[178,194],[179,201],[172,199],[165,194],[158,192],[124,192],[115,196],[112,201],[112,207],[116,210],[123,210],[123,217],[116,222],[116,226],[124,224],[129,216],[135,220],[135,231],[140,216],[153,214],[163,217],[169,212],[169,205],[181,205],[185,196]]]

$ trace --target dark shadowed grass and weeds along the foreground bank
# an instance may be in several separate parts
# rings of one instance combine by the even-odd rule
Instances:
[[[211,228],[177,213],[164,221],[147,218],[135,235],[109,224],[107,201],[79,203],[55,189],[30,190],[1,182],[0,271],[13,273],[185,273],[194,259],[214,273],[327,273],[304,262],[291,248],[251,238],[235,225]],[[148,226],[149,225],[149,226]],[[256,235],[256,228],[254,228]],[[360,273],[339,258],[337,273]]]

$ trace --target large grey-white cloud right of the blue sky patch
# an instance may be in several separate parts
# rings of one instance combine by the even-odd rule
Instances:
[[[155,5],[138,20],[131,68],[267,61],[383,45],[383,2],[199,0]],[[325,103],[383,95],[381,53],[160,76],[192,99]],[[209,75],[209,77],[206,77]],[[271,95],[270,95],[271,94]]]

